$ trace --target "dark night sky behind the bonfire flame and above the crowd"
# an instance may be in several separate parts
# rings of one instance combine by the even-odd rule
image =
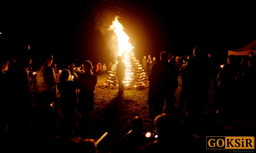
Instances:
[[[217,2],[173,3],[139,0],[36,1],[3,4],[0,20],[1,53],[10,58],[28,52],[38,60],[41,52],[65,68],[76,58],[108,64],[112,33],[106,29],[116,15],[130,37],[139,60],[144,55],[160,59],[160,52],[174,56],[193,54],[197,44],[226,59],[228,50],[245,47],[256,39],[253,4]],[[31,50],[24,49],[30,44]]]

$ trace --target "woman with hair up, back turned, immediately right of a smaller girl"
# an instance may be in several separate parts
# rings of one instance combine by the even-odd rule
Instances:
[[[91,112],[94,110],[94,90],[97,76],[93,74],[93,65],[89,60],[84,62],[84,74],[78,77],[79,100],[77,111],[82,114],[82,137],[92,133]]]

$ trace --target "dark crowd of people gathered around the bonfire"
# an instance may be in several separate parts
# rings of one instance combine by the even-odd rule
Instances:
[[[207,103],[211,79],[214,78],[216,114],[223,119],[233,116],[246,118],[254,122],[256,70],[254,53],[250,52],[242,63],[235,61],[235,55],[230,55],[223,65],[212,59],[211,54],[204,56],[204,48],[196,45],[193,56],[176,57],[168,52],[161,52],[160,61],[148,55],[142,59],[142,68],[149,81],[148,105],[149,115],[154,121],[158,140],[150,142],[143,133],[143,119],[135,117],[132,130],[123,138],[122,146],[130,146],[129,152],[146,153],[158,152],[169,148],[168,144],[181,146],[182,137],[173,135],[169,129],[181,130],[179,118],[186,105],[187,118],[190,123],[197,125],[203,118],[203,106]],[[124,93],[123,79],[125,77],[125,63],[121,56],[117,57],[118,93]],[[94,90],[97,75],[107,75],[112,71],[112,62],[106,66],[98,63],[96,74],[93,65],[87,60],[81,66],[75,63],[67,69],[59,71],[57,64],[53,64],[53,56],[45,53],[40,58],[40,65],[36,75],[30,68],[32,58],[28,55],[19,56],[10,65],[9,60],[1,57],[1,136],[9,141],[16,141],[22,137],[23,141],[10,147],[13,151],[49,151],[55,150],[53,135],[56,122],[61,120],[61,133],[65,136],[72,134],[75,109],[81,113],[82,132],[81,144],[92,144],[96,152],[92,137],[92,117],[94,110]],[[203,64],[202,64],[203,63]],[[53,67],[51,66],[53,64]],[[198,67],[200,65],[200,68]],[[175,91],[178,88],[178,76],[182,78],[182,90],[179,109],[175,107]],[[71,76],[74,76],[71,79]],[[32,97],[33,81],[36,80],[37,95]],[[17,91],[12,96],[11,88]],[[79,94],[76,91],[80,90]],[[77,101],[77,96],[79,97]],[[11,98],[10,98],[11,97]],[[36,105],[35,105],[36,101]],[[166,106],[164,107],[166,101]],[[61,114],[56,110],[61,109]],[[235,112],[234,112],[235,111]],[[232,115],[231,115],[232,114]],[[169,123],[172,123],[170,126]],[[170,135],[171,134],[171,135]],[[169,139],[175,137],[176,141]],[[138,143],[135,143],[135,139]],[[79,146],[82,148],[82,146]],[[164,151],[163,151],[164,152]]]

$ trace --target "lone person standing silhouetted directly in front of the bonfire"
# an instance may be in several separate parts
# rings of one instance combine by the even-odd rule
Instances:
[[[125,77],[125,63],[122,61],[121,56],[117,56],[117,81],[118,81],[118,94],[123,94],[123,80]]]

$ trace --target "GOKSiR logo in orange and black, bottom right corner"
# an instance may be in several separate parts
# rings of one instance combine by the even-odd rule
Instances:
[[[254,149],[254,137],[206,137],[206,149]]]

